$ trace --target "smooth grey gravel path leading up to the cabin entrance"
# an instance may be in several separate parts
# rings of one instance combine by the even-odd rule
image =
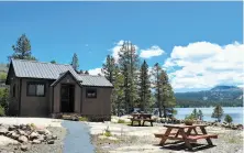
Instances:
[[[67,130],[63,153],[95,153],[87,124],[79,121],[64,121],[62,125]]]

